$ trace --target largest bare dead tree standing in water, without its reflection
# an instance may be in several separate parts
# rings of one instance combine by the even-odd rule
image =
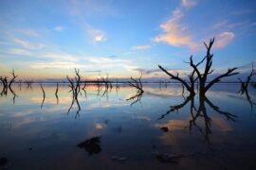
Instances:
[[[195,81],[198,81],[198,83],[199,83],[199,93],[200,94],[205,94],[205,93],[208,92],[208,90],[211,88],[211,86],[213,84],[215,84],[217,82],[220,82],[222,78],[227,77],[227,76],[234,76],[234,75],[238,74],[238,72],[234,72],[237,69],[236,67],[234,67],[234,68],[228,69],[228,71],[226,73],[224,73],[220,76],[216,76],[215,78],[211,79],[208,82],[208,76],[210,76],[210,74],[212,74],[213,71],[214,71],[213,69],[211,69],[213,54],[211,54],[211,52],[210,52],[210,49],[211,49],[213,43],[214,43],[214,38],[210,39],[209,44],[204,43],[206,48],[207,48],[207,54],[198,63],[193,62],[192,56],[190,58],[190,61],[187,62],[191,65],[191,67],[193,69],[192,74],[189,76],[190,81],[191,81],[191,85],[186,80],[179,77],[178,74],[176,76],[174,76],[173,74],[169,73],[167,70],[165,70],[160,65],[158,65],[158,67],[163,72],[165,72],[167,75],[171,76],[172,79],[181,82],[186,87],[186,89],[192,94],[194,94],[194,90],[193,90],[194,85],[193,84],[194,84]],[[205,62],[204,69],[202,71],[200,71],[199,66],[204,62]]]

